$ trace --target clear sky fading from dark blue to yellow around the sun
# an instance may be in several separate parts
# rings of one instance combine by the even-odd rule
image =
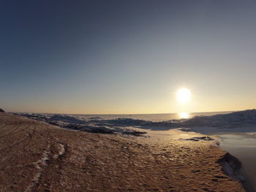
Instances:
[[[256,108],[256,1],[0,1],[0,107],[131,114]],[[176,99],[188,88],[187,104]]]

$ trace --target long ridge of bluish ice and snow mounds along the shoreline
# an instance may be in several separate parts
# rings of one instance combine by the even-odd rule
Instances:
[[[117,118],[105,120],[101,118],[80,118],[73,115],[49,115],[39,113],[15,113],[47,123],[61,126],[63,128],[77,129],[80,131],[101,132],[110,134],[119,132],[123,134],[140,135],[146,132],[135,131],[125,127],[144,128],[152,130],[167,130],[170,128],[238,128],[251,126],[256,130],[256,110],[245,110],[231,112],[223,115],[196,116],[187,120],[167,120],[152,122],[149,120],[138,120],[132,118]]]

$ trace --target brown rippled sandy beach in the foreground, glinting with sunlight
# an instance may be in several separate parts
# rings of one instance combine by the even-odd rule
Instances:
[[[92,134],[2,113],[0,191],[244,191],[222,172],[225,151],[214,141],[148,134]]]

